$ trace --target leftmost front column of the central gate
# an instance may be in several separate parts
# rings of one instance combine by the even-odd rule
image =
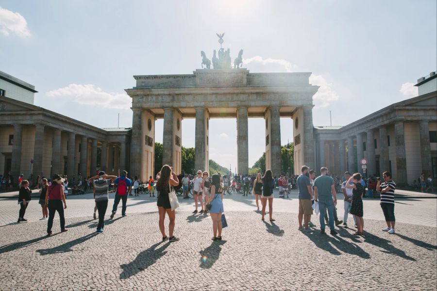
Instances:
[[[130,154],[130,175],[140,176],[141,167],[141,109],[134,108]]]

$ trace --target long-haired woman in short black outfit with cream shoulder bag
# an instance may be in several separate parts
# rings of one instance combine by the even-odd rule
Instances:
[[[174,221],[175,221],[175,213],[174,210],[171,210],[170,199],[168,198],[168,193],[170,193],[170,186],[178,186],[179,179],[175,172],[170,168],[169,165],[163,165],[161,171],[156,175],[158,178],[158,186],[157,189],[159,191],[158,194],[158,202],[156,205],[158,206],[159,212],[159,230],[162,233],[162,240],[170,242],[179,241],[173,235],[174,230]],[[166,219],[166,212],[168,214],[168,219],[170,223],[168,224],[168,232],[170,237],[168,238],[166,235],[166,227],[164,226],[164,220]]]

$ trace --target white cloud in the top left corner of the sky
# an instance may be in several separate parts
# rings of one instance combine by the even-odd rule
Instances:
[[[31,36],[27,28],[27,21],[22,15],[2,7],[0,7],[0,33],[6,36],[10,33],[15,33],[18,36]]]

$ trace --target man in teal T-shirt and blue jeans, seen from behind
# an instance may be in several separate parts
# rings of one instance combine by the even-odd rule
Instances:
[[[319,202],[320,212],[320,233],[325,233],[325,220],[323,213],[325,209],[328,210],[329,216],[329,228],[331,228],[331,234],[336,235],[337,232],[334,228],[334,207],[337,205],[337,194],[334,186],[334,179],[327,176],[328,169],[321,167],[321,176],[317,177],[314,181],[314,196],[316,201]],[[334,197],[334,201],[332,200]]]

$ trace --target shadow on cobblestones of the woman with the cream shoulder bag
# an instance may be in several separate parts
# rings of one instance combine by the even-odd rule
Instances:
[[[165,249],[170,245],[170,242],[164,243],[159,248],[156,248],[161,243],[163,242],[157,242],[147,250],[142,251],[129,264],[120,265],[121,269],[123,269],[123,272],[121,272],[120,274],[120,279],[128,279],[131,276],[146,270],[158,259],[167,254],[167,251],[165,251]]]

